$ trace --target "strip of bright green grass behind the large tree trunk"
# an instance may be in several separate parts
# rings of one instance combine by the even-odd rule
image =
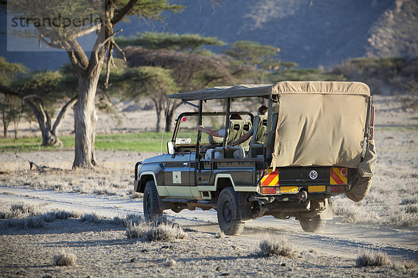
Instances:
[[[171,140],[172,132],[164,133],[162,140],[162,152],[167,152],[167,142]],[[192,138],[196,141],[193,132],[179,133],[178,138]],[[107,134],[95,137],[95,149],[105,149],[111,151],[132,151],[132,152],[160,152],[161,132],[127,133],[127,134]],[[63,147],[42,147],[41,138],[0,138],[1,151],[29,152],[40,150],[61,150],[74,149],[74,136],[63,136],[59,138],[63,142]]]

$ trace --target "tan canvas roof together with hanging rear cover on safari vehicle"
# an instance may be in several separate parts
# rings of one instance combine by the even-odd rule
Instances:
[[[274,142],[268,148],[272,149],[268,154],[272,167],[359,166],[370,96],[364,83],[284,81],[208,88],[168,97],[190,101],[270,95],[279,101],[277,126],[272,126],[265,138],[265,147]]]

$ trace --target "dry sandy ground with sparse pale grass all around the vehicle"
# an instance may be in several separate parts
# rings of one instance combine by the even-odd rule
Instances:
[[[116,224],[69,219],[19,229],[0,220],[0,277],[418,277],[416,266],[402,266],[418,261],[418,117],[394,97],[378,96],[375,104],[378,167],[371,193],[358,204],[335,199],[346,210],[327,223],[324,234],[304,233],[295,220],[261,218],[242,236],[217,238],[212,210],[168,212],[187,237],[167,242],[128,239],[125,227]],[[129,126],[138,126],[132,121],[141,117],[132,115],[121,130],[99,123],[98,133],[137,131]],[[70,126],[63,130],[70,132]],[[0,153],[0,207],[24,200],[48,209],[98,209],[111,217],[141,211],[141,196],[132,194],[133,166],[155,154],[97,151],[96,156],[97,169],[72,171],[72,151]],[[28,161],[62,170],[29,170]],[[260,255],[263,238],[283,237],[293,256]],[[55,266],[61,250],[75,254],[76,265]],[[392,263],[355,267],[359,253],[379,250]]]

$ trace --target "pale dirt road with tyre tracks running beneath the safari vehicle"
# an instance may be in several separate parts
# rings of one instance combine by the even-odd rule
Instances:
[[[1,200],[5,202],[34,202],[45,204],[45,209],[82,211],[103,216],[122,216],[128,213],[142,214],[142,201],[121,199],[118,196],[61,193],[54,190],[0,187]],[[206,234],[218,233],[216,211],[184,210],[180,213],[167,211],[167,216],[181,226]],[[247,222],[243,238],[259,240],[261,236],[276,238],[286,236],[297,250],[316,248],[335,256],[353,258],[359,250],[385,252],[394,260],[418,261],[418,229],[395,229],[376,224],[348,224],[338,218],[327,221],[320,234],[305,233],[297,221],[277,220],[272,217]]]

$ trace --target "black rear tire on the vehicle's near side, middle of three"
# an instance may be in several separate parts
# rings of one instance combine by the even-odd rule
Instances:
[[[232,187],[222,190],[217,202],[217,218],[219,228],[224,234],[238,236],[244,229],[240,218],[238,193]]]

